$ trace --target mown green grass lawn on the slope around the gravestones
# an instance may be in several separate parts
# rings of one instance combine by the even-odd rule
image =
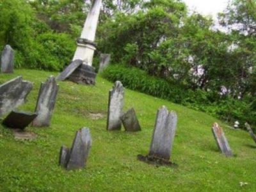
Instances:
[[[54,72],[15,70],[0,74],[0,83],[14,77],[32,81],[28,102],[34,111],[40,83]],[[134,107],[141,132],[106,131],[108,91],[113,86],[97,77],[96,86],[60,82],[51,127],[28,127],[38,138],[16,141],[0,125],[0,191],[256,191],[256,145],[248,132],[163,99],[125,90],[125,110]],[[136,159],[148,154],[156,111],[165,105],[178,115],[171,160],[178,168],[156,167]],[[102,118],[95,120],[93,114]],[[211,132],[214,122],[225,131],[235,157],[226,158]],[[86,168],[67,172],[58,166],[61,145],[71,147],[77,129],[89,127],[93,143]],[[239,182],[248,182],[240,186]]]

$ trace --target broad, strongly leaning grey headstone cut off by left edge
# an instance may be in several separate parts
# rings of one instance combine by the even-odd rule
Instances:
[[[24,104],[26,97],[32,90],[33,84],[22,81],[22,77],[12,79],[0,86],[0,116]]]

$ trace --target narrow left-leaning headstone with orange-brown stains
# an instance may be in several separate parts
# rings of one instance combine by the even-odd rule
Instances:
[[[214,123],[212,125],[212,134],[213,134],[214,139],[216,140],[218,148],[221,150],[221,152],[226,157],[233,156],[232,150],[231,150],[231,148],[228,145],[227,138],[225,137],[222,128],[217,123]]]

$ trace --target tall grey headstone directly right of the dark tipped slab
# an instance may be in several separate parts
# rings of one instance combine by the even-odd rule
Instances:
[[[58,90],[59,86],[53,76],[49,77],[45,83],[41,84],[35,110],[38,116],[33,120],[33,126],[44,127],[51,124]]]

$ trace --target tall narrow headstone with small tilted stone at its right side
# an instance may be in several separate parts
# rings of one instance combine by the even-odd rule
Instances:
[[[107,129],[120,130],[122,121],[120,116],[123,113],[124,107],[124,86],[120,81],[116,81],[113,89],[109,91],[108,99],[108,122]]]

